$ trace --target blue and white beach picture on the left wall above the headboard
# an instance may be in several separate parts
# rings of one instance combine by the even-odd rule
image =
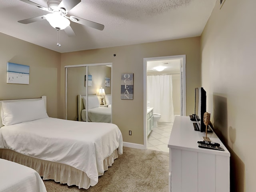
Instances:
[[[29,66],[7,62],[7,83],[29,84]]]

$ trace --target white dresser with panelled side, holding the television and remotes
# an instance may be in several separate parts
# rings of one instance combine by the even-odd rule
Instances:
[[[230,192],[230,153],[215,133],[207,136],[225,151],[199,148],[202,136],[189,117],[175,117],[168,143],[169,192]]]

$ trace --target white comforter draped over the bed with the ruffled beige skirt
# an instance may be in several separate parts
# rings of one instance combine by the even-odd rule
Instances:
[[[122,134],[111,123],[43,118],[0,128],[0,148],[73,166],[94,186],[103,160],[117,148],[122,154]]]

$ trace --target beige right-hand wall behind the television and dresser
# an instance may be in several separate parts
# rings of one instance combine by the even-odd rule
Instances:
[[[202,86],[214,128],[231,153],[232,192],[256,188],[255,7],[255,0],[217,4],[202,34]]]

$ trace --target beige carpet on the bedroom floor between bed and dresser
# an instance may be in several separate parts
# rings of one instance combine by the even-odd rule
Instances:
[[[89,189],[46,180],[48,192],[167,192],[169,153],[124,147],[114,164]]]

